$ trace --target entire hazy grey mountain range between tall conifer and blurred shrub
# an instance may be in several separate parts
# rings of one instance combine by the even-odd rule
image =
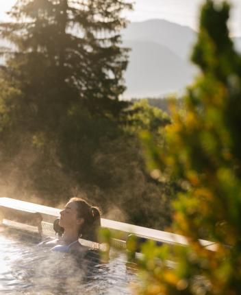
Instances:
[[[192,29],[150,20],[130,23],[122,35],[124,45],[131,48],[124,97],[160,97],[192,82],[196,73],[189,61],[196,39]]]

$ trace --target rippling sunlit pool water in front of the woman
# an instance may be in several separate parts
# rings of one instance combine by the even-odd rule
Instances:
[[[122,255],[87,268],[86,261],[79,266],[70,255],[12,239],[4,231],[0,246],[1,294],[130,294],[129,282],[135,279]]]

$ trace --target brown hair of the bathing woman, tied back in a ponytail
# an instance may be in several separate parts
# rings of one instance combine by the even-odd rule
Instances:
[[[88,241],[98,241],[97,234],[101,226],[101,213],[81,198],[71,198],[69,202],[77,204],[77,216],[84,219],[79,230],[79,237]]]

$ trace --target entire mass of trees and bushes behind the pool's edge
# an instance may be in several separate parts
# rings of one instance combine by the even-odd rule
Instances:
[[[172,186],[146,172],[138,136],[159,136],[170,119],[146,102],[118,100],[128,54],[121,12],[129,8],[122,0],[19,0],[14,22],[0,24],[12,46],[1,49],[0,187],[53,206],[80,192],[105,217],[163,229]]]

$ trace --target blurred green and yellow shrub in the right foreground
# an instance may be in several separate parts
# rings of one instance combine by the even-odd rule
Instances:
[[[207,0],[192,60],[201,75],[188,88],[185,110],[173,110],[168,149],[149,145],[151,167],[172,174],[185,190],[175,202],[173,231],[188,248],[147,246],[139,294],[240,294],[241,289],[241,57],[229,38],[226,2]],[[216,251],[199,239],[216,242]],[[159,258],[159,259],[156,259]],[[166,259],[176,259],[170,269]]]

